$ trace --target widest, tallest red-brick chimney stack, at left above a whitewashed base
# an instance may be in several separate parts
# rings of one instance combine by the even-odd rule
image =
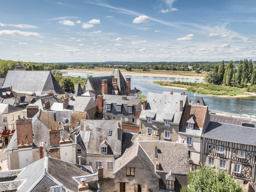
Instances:
[[[33,144],[32,119],[17,119],[16,120],[17,143]],[[22,142],[21,142],[22,141]],[[18,147],[19,148],[19,147]]]

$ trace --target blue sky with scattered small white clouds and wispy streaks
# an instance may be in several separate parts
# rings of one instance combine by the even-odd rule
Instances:
[[[256,1],[2,0],[0,59],[256,60]]]

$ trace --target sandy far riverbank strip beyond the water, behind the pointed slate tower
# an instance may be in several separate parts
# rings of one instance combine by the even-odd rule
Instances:
[[[205,74],[197,74],[193,71],[165,71],[165,70],[151,70],[142,71],[141,69],[134,69],[132,71],[126,71],[125,69],[119,69],[122,75],[126,76],[150,76],[150,77],[167,77],[167,78],[188,78],[188,79],[204,79]],[[98,73],[110,75],[113,68],[94,68],[94,69],[61,69],[61,72],[76,72],[76,73]]]

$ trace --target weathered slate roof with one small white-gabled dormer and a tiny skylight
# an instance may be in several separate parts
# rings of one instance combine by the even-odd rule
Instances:
[[[117,137],[118,122],[122,128],[122,121],[118,120],[81,120],[80,135],[88,154],[101,154],[100,144],[107,140],[109,143],[108,154],[121,155],[122,140],[118,140]],[[84,131],[87,131],[87,135]],[[112,131],[110,136],[108,131]]]

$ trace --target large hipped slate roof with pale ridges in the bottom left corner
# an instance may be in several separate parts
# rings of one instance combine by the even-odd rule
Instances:
[[[2,174],[6,174],[6,172],[0,172],[0,177]],[[70,192],[78,192],[78,185],[81,184],[81,181],[76,180],[73,177],[82,176],[95,177],[95,174],[93,174],[91,170],[91,166],[77,165],[51,157],[44,157],[27,167],[24,167],[14,180],[2,182],[0,184],[0,190],[5,191],[6,186],[8,186],[9,188],[12,187],[11,190],[13,191],[30,192],[37,186],[40,186],[41,189],[49,189],[51,186],[59,185],[60,183],[66,190]],[[44,182],[45,177],[48,182]],[[97,180],[97,178],[94,180]],[[97,188],[90,188],[90,190],[94,191],[97,190]]]

